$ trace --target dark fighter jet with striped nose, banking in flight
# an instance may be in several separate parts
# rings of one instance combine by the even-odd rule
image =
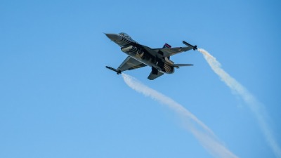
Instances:
[[[171,48],[169,44],[164,44],[163,48],[150,48],[138,44],[138,42],[131,39],[131,37],[124,32],[105,35],[111,39],[111,41],[118,44],[121,47],[121,51],[129,55],[117,69],[108,66],[106,66],[106,68],[117,72],[117,74],[121,74],[126,70],[135,70],[141,67],[150,66],[152,67],[152,71],[148,76],[148,79],[150,80],[156,79],[164,73],[174,73],[175,67],[192,66],[192,64],[175,64],[170,60],[170,57],[177,53],[197,49],[197,46],[192,46],[186,41],[183,41],[183,44],[186,45],[185,47]]]

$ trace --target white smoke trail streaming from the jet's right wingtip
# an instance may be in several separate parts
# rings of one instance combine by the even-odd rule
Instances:
[[[261,131],[263,132],[264,136],[268,144],[270,145],[271,149],[273,150],[276,157],[281,157],[281,149],[277,145],[273,133],[271,132],[268,124],[266,123],[266,118],[268,118],[268,114],[266,114],[266,109],[257,100],[249,91],[247,91],[244,86],[242,86],[238,81],[233,79],[227,72],[225,72],[221,68],[221,64],[214,58],[211,54],[205,51],[202,48],[198,48],[198,51],[204,55],[204,58],[207,60],[211,69],[214,70],[221,80],[226,83],[227,86],[230,87],[231,90],[235,91],[237,95],[241,96],[244,102],[249,105],[251,112],[254,113],[254,116],[258,120],[259,126]]]

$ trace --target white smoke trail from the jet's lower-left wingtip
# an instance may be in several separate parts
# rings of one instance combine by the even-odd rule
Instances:
[[[214,135],[213,131],[209,129],[202,121],[197,119],[195,115],[185,109],[182,105],[176,103],[171,98],[164,96],[162,93],[155,91],[154,89],[145,86],[140,81],[129,76],[128,74],[122,74],[125,83],[139,93],[143,93],[145,96],[159,101],[164,105],[168,105],[177,114],[183,117],[185,122],[185,128],[190,131],[197,140],[207,149],[214,157],[237,157],[230,152]]]

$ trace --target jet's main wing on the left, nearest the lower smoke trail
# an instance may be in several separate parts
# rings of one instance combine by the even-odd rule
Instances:
[[[133,70],[133,69],[138,69],[141,67],[145,67],[146,65],[143,64],[142,62],[139,62],[138,60],[131,58],[128,56],[124,62],[117,68],[117,71],[124,72],[126,70]]]

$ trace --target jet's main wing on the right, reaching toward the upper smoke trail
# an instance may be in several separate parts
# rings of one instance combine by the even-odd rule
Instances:
[[[174,47],[174,48],[152,48],[151,50],[163,55],[163,57],[169,57],[177,53],[189,51],[190,49],[192,49],[192,47],[188,46],[188,47]]]

